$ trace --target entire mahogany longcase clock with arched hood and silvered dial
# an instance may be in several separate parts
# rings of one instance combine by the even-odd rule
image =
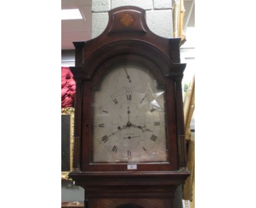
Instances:
[[[162,38],[145,10],[109,11],[104,32],[74,42],[73,172],[89,208],[172,207],[186,167],[181,39]]]

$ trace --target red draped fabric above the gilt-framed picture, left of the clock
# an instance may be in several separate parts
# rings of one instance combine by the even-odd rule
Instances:
[[[73,107],[75,81],[69,67],[61,67],[61,108]]]

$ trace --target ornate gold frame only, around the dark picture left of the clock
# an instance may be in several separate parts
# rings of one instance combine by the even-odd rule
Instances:
[[[73,149],[74,149],[74,108],[61,108],[61,115],[70,115],[70,171],[61,172],[61,180],[72,180],[68,174],[73,169]]]

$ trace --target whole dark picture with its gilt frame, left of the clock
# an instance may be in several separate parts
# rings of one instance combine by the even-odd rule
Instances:
[[[61,180],[72,180],[68,174],[73,168],[74,108],[61,108]]]

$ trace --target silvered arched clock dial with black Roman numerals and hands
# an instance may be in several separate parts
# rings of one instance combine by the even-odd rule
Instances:
[[[149,69],[115,66],[92,95],[92,162],[168,161],[165,89]]]

